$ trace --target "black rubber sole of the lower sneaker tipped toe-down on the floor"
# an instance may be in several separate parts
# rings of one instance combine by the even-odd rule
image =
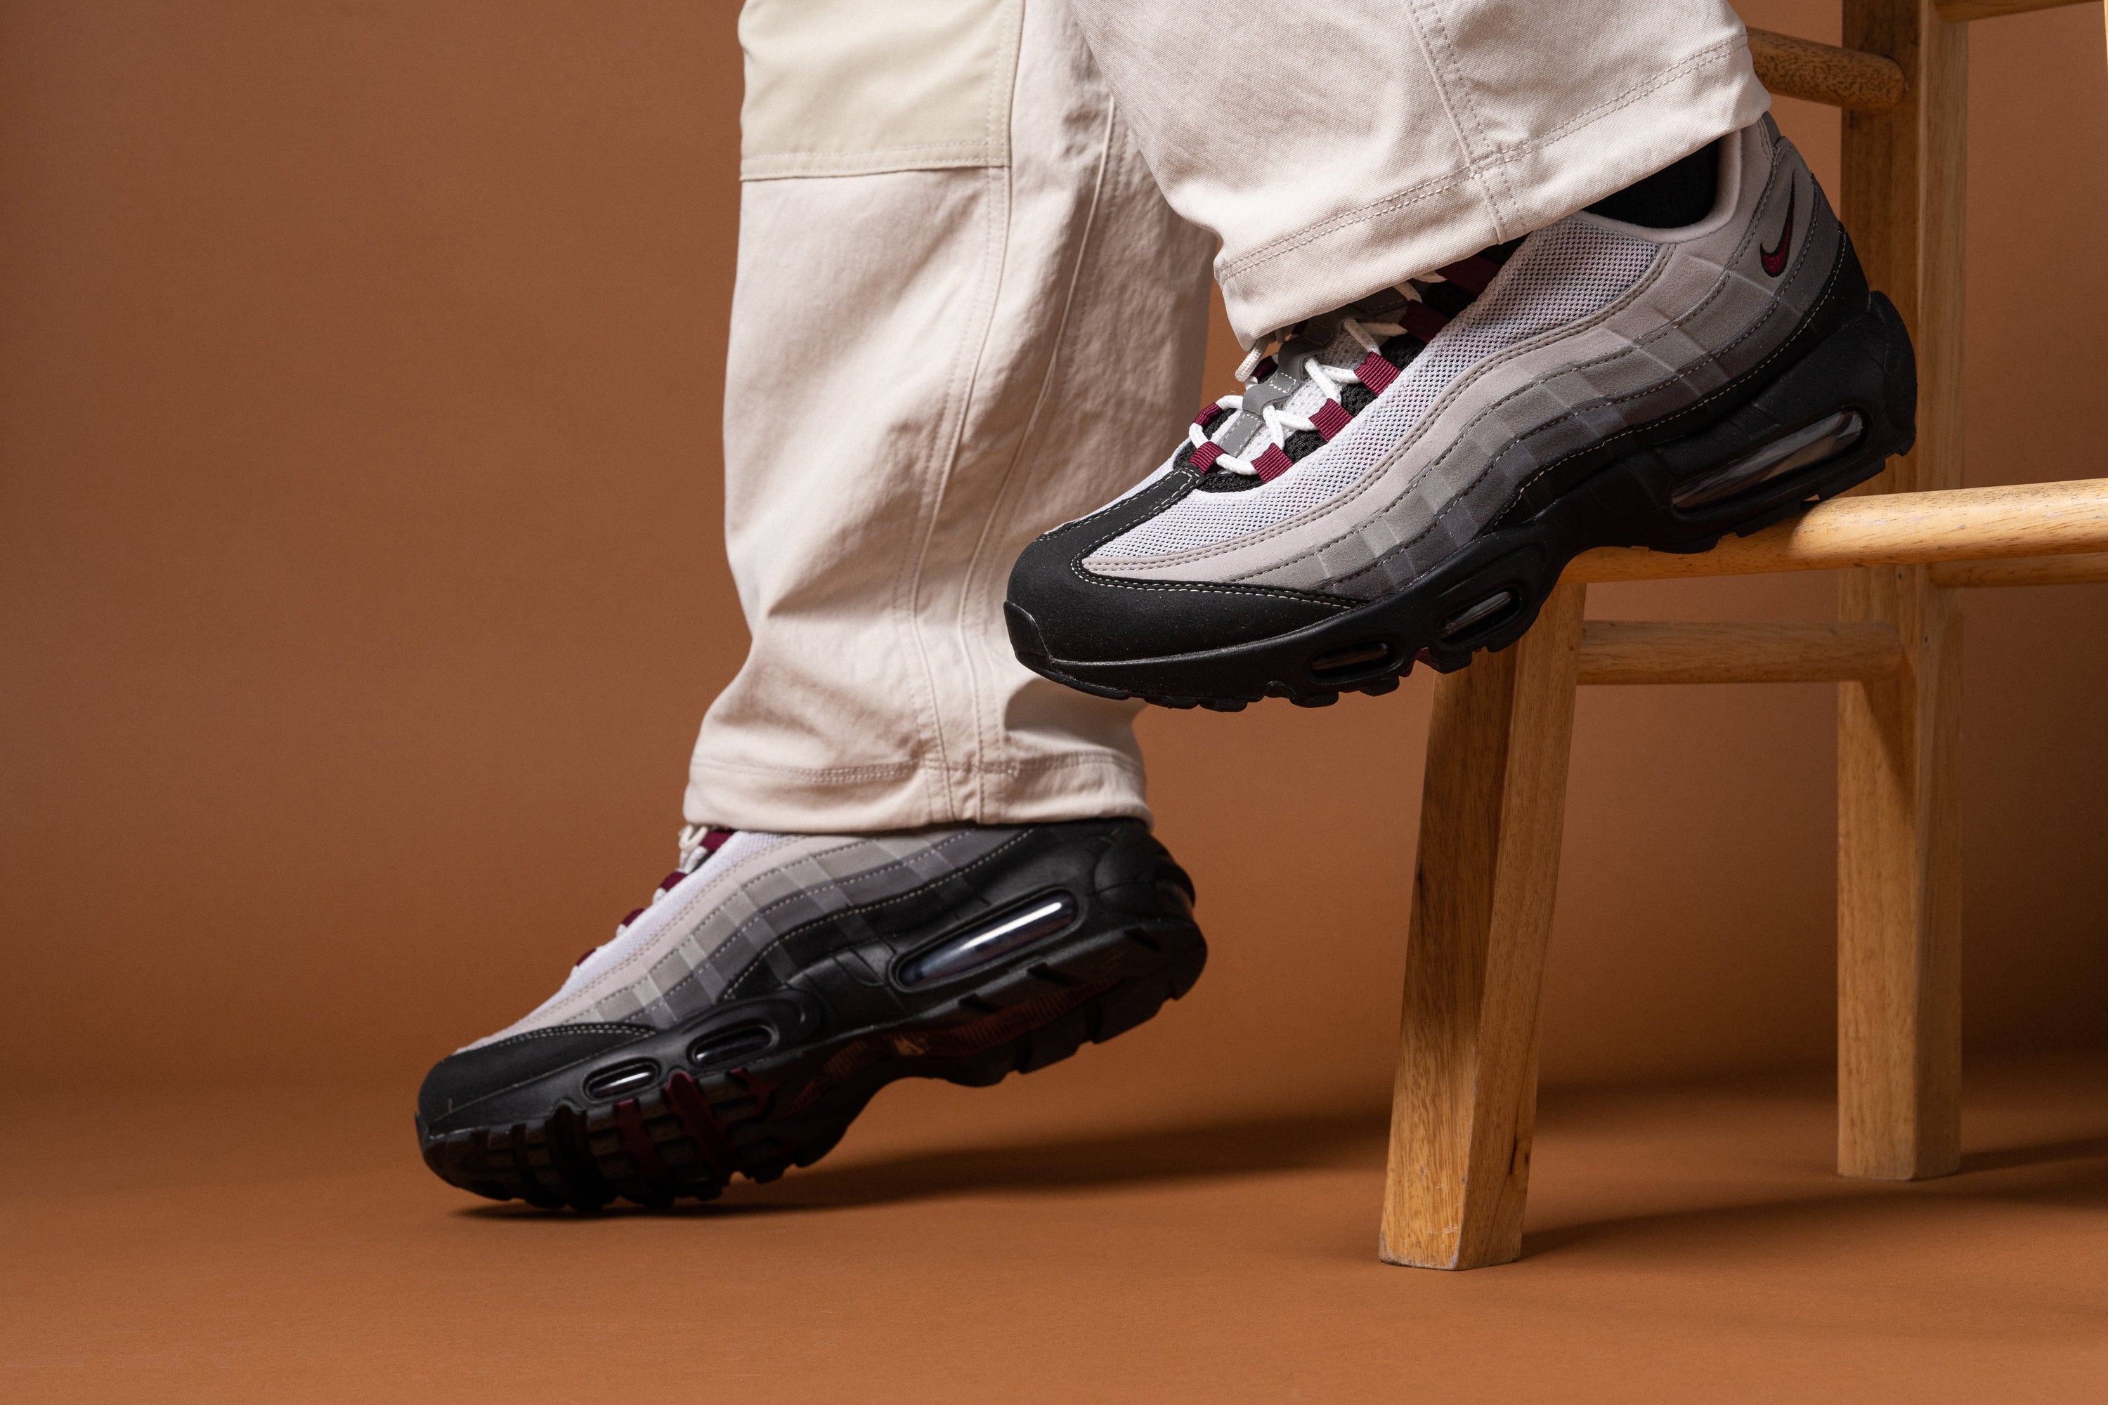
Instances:
[[[542,1209],[616,1199],[708,1201],[734,1175],[772,1182],[824,1156],[896,1079],[1001,1083],[1105,1043],[1176,1001],[1208,961],[1191,923],[1077,935],[993,969],[942,1009],[772,1051],[742,1068],[675,1066],[630,1097],[563,1100],[544,1116],[417,1140],[447,1184]],[[685,1038],[685,1036],[683,1036]]]

